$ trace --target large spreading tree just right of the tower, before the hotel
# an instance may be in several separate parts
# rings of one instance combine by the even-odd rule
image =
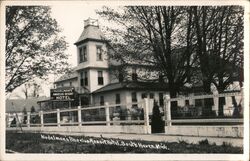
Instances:
[[[109,39],[114,51],[111,59],[126,65],[156,71],[167,79],[170,96],[176,97],[195,66],[192,39],[192,15],[186,7],[127,6],[119,11],[104,7],[102,17],[116,23],[109,28]],[[113,25],[115,26],[115,25]],[[188,27],[186,27],[188,26]],[[147,66],[147,67],[146,67]]]

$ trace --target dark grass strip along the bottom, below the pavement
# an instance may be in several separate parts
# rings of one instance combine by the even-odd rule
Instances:
[[[47,134],[44,134],[47,135]],[[64,135],[54,135],[55,137],[69,137]],[[71,136],[74,139],[109,139],[87,136]],[[231,144],[210,145],[208,140],[202,140],[199,144],[189,144],[186,141],[179,142],[154,142],[143,140],[122,140],[112,139],[114,141],[144,145],[161,144],[167,149],[138,148],[132,146],[117,146],[103,144],[88,144],[66,142],[60,140],[46,140],[41,138],[40,133],[17,133],[6,132],[6,149],[19,153],[232,153],[242,154],[242,147],[233,147]]]

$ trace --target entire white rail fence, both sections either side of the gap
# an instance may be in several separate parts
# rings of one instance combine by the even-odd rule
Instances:
[[[175,123],[243,123],[243,118],[212,118],[212,119],[171,119],[171,101],[179,101],[179,100],[190,100],[190,99],[204,99],[204,98],[215,98],[215,97],[231,97],[231,96],[240,96],[241,93],[227,93],[227,94],[218,94],[218,95],[203,95],[203,96],[193,96],[193,97],[180,97],[180,98],[172,98],[170,99],[169,95],[164,97],[164,121],[165,126],[172,126]],[[137,106],[139,109],[143,109],[143,118],[142,117],[135,117],[132,118],[133,114],[127,114],[126,119],[121,119],[115,116],[115,109],[116,107],[128,107],[128,106]],[[113,125],[143,125],[147,129],[150,128],[150,117],[149,115],[152,113],[153,100],[144,98],[143,101],[137,103],[130,103],[130,104],[109,104],[105,103],[103,106],[94,106],[94,107],[81,107],[78,106],[77,108],[72,109],[56,109],[52,111],[40,111],[38,113],[30,113],[28,112],[27,115],[23,115],[23,117],[27,117],[27,122],[25,124],[17,118],[16,122],[19,126],[22,127],[44,127],[44,126],[87,126],[87,125],[102,125],[102,126],[113,126]],[[104,112],[103,117],[99,120],[84,120],[84,114],[88,113],[89,111],[102,111]],[[132,110],[131,110],[132,111]],[[68,113],[67,116],[65,113]],[[75,114],[73,114],[75,113]],[[54,116],[54,122],[47,122],[48,115]],[[99,113],[100,114],[100,113]],[[142,114],[142,113],[141,113]],[[6,114],[8,117],[10,114]],[[98,114],[97,114],[98,115]],[[89,116],[90,118],[93,115]],[[34,118],[37,118],[38,121],[34,123]],[[66,119],[65,119],[66,118]],[[8,122],[9,120],[6,119]],[[177,126],[177,125],[175,125]],[[15,127],[15,126],[14,126]]]

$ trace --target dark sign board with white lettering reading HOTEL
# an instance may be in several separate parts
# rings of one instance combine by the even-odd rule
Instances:
[[[72,87],[64,87],[50,90],[52,100],[73,101],[75,99],[75,89]]]

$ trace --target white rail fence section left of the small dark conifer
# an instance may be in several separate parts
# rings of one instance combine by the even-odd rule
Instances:
[[[15,117],[16,118],[16,122],[18,126],[22,126],[22,127],[34,127],[34,126],[66,126],[66,125],[70,125],[70,126],[83,126],[83,125],[105,125],[105,126],[111,126],[111,125],[121,125],[121,124],[125,124],[125,125],[132,125],[132,124],[142,124],[142,125],[146,125],[149,126],[149,119],[139,119],[137,118],[131,118],[131,116],[133,115],[133,113],[127,114],[125,117],[126,119],[124,120],[120,120],[118,117],[114,116],[115,114],[115,108],[117,107],[127,107],[127,106],[137,106],[138,109],[144,111],[143,113],[143,117],[144,118],[148,118],[147,116],[149,115],[148,109],[149,109],[149,99],[144,99],[141,102],[137,102],[137,103],[129,103],[129,104],[109,104],[109,103],[105,103],[105,105],[103,106],[94,106],[94,107],[82,107],[82,106],[78,106],[77,108],[71,108],[71,109],[56,109],[56,110],[52,110],[52,111],[39,111],[36,113],[30,113],[27,112],[26,115],[22,115],[22,119]],[[96,111],[96,112],[100,112],[100,111],[105,111],[105,119],[96,121],[96,120],[89,120],[89,121],[84,121],[84,117],[82,117],[82,114],[85,114],[87,112],[91,112],[91,111]],[[133,112],[132,109],[130,109],[131,112]],[[73,116],[73,113],[77,113],[77,115]],[[68,113],[67,116],[62,116],[63,114]],[[56,117],[56,122],[50,122],[47,123],[46,122],[46,116],[47,115],[51,115],[54,114],[54,117]],[[8,118],[10,114],[6,114],[6,117]],[[112,116],[112,117],[111,117]],[[27,117],[27,122],[23,123],[23,118]],[[91,116],[90,116],[91,117]],[[93,117],[93,116],[92,116]],[[10,118],[10,117],[9,117]],[[36,120],[36,122],[34,123],[32,120]],[[77,120],[75,120],[75,118],[77,118]],[[112,118],[112,120],[111,120]],[[7,122],[9,122],[9,120],[6,120]],[[15,126],[14,126],[15,127]]]

